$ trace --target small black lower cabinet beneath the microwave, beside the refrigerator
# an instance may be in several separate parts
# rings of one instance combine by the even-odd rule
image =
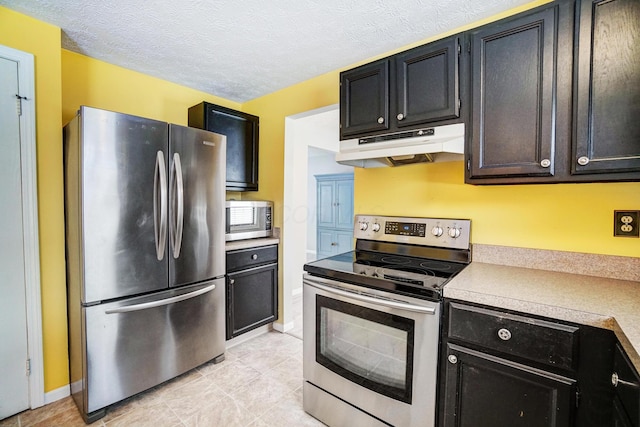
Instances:
[[[277,245],[227,252],[227,340],[278,318]]]

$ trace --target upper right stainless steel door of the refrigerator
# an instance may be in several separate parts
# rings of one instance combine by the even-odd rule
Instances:
[[[226,137],[169,125],[169,286],[225,273]]]

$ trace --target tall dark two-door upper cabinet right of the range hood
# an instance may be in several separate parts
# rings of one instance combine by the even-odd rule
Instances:
[[[469,32],[471,184],[640,180],[640,2],[559,0]]]

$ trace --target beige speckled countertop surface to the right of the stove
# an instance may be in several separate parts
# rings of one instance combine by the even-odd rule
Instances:
[[[640,370],[640,282],[473,261],[444,296],[615,332]]]

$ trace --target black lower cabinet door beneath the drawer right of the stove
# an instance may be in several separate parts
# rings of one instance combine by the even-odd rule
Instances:
[[[448,344],[445,427],[572,425],[575,381]]]

